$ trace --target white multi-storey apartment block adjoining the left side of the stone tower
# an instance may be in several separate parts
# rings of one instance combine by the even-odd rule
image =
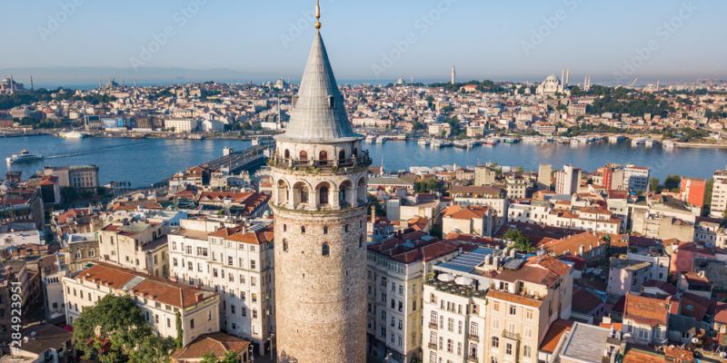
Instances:
[[[220,295],[220,327],[263,354],[274,337],[273,232],[182,220],[169,235],[171,276]],[[215,231],[215,227],[216,231]]]

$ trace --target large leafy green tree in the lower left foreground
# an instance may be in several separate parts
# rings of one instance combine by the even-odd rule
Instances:
[[[171,339],[154,334],[133,299],[115,295],[106,295],[75,319],[74,341],[84,358],[104,363],[165,362],[174,348]]]

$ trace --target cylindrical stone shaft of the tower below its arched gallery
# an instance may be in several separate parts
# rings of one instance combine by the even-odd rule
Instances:
[[[363,363],[366,207],[319,212],[273,209],[280,361]],[[329,246],[327,256],[324,243]]]

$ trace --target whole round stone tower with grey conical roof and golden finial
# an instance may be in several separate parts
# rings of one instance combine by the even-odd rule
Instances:
[[[321,36],[285,133],[269,160],[274,180],[275,348],[278,362],[366,361],[366,175]]]

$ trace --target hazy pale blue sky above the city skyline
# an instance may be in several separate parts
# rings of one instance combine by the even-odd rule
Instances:
[[[727,75],[727,2],[322,0],[342,80]],[[224,68],[297,79],[312,0],[5,0],[0,69]],[[128,75],[127,75],[128,76]]]

